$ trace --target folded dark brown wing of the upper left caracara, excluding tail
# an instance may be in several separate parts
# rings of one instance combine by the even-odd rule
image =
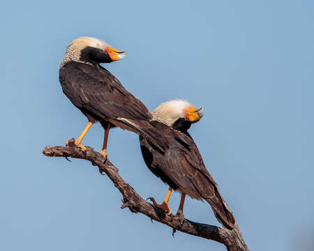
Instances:
[[[91,114],[110,119],[151,119],[147,107],[100,66],[73,62],[61,68],[60,76],[66,96]]]

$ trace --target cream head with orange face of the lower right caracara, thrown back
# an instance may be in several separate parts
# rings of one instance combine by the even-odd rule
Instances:
[[[186,100],[163,102],[151,113],[154,120],[165,123],[174,129],[186,131],[192,123],[200,121],[204,115],[202,107],[194,107]]]

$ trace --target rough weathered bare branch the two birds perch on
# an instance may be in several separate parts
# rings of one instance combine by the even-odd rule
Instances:
[[[101,172],[107,174],[114,183],[114,186],[119,189],[123,196],[121,208],[128,207],[133,213],[142,213],[151,218],[151,220],[156,220],[186,234],[218,241],[219,243],[223,243],[229,251],[248,250],[237,223],[236,227],[232,230],[226,229],[225,227],[192,222],[186,219],[181,225],[177,218],[171,218],[160,208],[156,208],[154,205],[144,200],[123,178],[121,178],[119,170],[112,165],[110,160],[103,158],[103,155],[94,151],[94,149],[89,146],[87,146],[87,150],[83,152],[80,148],[75,146],[74,139],[70,139],[68,146],[46,146],[45,149],[43,149],[43,154],[50,157],[71,157],[89,160],[93,165],[96,165]]]

